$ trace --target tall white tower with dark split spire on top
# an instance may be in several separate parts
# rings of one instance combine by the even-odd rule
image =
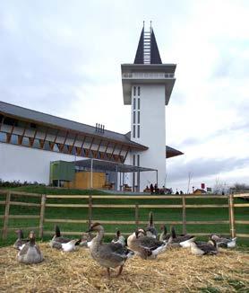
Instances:
[[[158,170],[133,174],[131,184],[140,191],[150,183],[166,184],[165,106],[176,81],[175,70],[175,64],[161,62],[151,22],[149,31],[143,24],[134,63],[121,65],[124,104],[131,105],[131,140],[149,147],[131,152],[126,163]]]

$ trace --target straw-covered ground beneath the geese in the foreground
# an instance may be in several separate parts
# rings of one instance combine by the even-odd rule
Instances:
[[[195,256],[171,249],[153,261],[129,259],[121,276],[112,271],[109,278],[86,248],[39,246],[45,261],[36,265],[17,262],[13,247],[0,248],[0,292],[249,292],[249,254],[239,251]]]

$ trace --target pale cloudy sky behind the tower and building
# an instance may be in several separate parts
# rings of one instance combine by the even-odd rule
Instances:
[[[0,100],[126,133],[121,68],[145,27],[176,84],[166,107],[167,187],[249,183],[249,2],[0,2]]]

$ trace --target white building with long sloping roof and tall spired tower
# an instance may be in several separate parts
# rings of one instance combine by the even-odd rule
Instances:
[[[150,183],[165,185],[166,158],[182,155],[166,147],[165,137],[165,105],[176,65],[161,64],[150,28],[142,29],[134,64],[121,68],[124,103],[131,105],[127,134],[0,102],[0,179],[48,184],[50,163],[61,160],[107,173],[116,190],[124,183],[133,191]]]

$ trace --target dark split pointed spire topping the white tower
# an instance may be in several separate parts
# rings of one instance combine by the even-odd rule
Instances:
[[[159,48],[158,48],[158,44],[157,44],[157,40],[154,34],[154,31],[152,30],[152,28],[150,27],[150,32],[148,32],[148,34],[150,35],[150,61],[147,60],[146,64],[162,64],[161,58],[160,58],[160,53],[159,53]],[[146,34],[146,38],[148,39],[148,34]],[[134,59],[134,64],[145,64],[144,62],[144,27],[142,28],[142,32],[141,32],[141,36],[140,36],[140,40],[138,43],[138,48],[136,51],[136,57]],[[148,42],[148,40],[147,40]],[[146,44],[146,48],[148,48],[148,43]],[[148,49],[146,49],[148,52]]]

